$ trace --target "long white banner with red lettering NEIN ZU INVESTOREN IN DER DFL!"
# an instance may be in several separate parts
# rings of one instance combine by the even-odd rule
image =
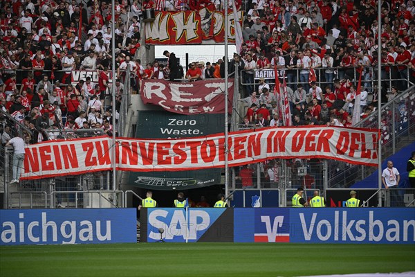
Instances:
[[[376,129],[347,127],[267,127],[232,132],[229,166],[268,159],[335,159],[377,166]],[[39,179],[111,170],[111,138],[53,141],[26,148],[22,179]],[[223,134],[190,139],[117,139],[116,168],[174,171],[223,168]]]

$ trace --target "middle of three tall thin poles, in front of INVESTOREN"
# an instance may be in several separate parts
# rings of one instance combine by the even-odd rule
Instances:
[[[225,199],[229,195],[229,161],[228,161],[228,0],[225,0]],[[227,202],[229,202],[227,200]],[[229,205],[228,205],[229,206]]]

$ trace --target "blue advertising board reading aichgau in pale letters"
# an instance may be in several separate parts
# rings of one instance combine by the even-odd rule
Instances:
[[[0,244],[136,242],[135,208],[0,210]]]

